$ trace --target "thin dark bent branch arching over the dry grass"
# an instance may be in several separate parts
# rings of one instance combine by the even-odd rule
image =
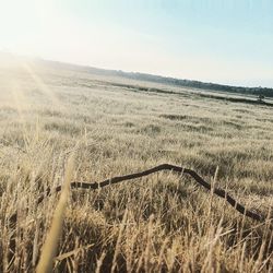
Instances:
[[[156,167],[146,169],[144,171],[134,173],[134,174],[130,174],[130,175],[126,175],[126,176],[112,177],[112,178],[106,179],[106,180],[104,180],[102,182],[93,182],[93,183],[88,183],[88,182],[71,182],[70,186],[71,186],[72,189],[93,189],[93,190],[96,190],[98,188],[104,188],[106,186],[115,185],[115,183],[118,183],[118,182],[121,182],[121,181],[149,176],[151,174],[154,174],[154,173],[157,173],[157,171],[161,171],[161,170],[170,170],[170,171],[178,173],[179,175],[183,175],[183,174],[190,175],[200,186],[202,186],[206,190],[212,190],[215,195],[218,195],[218,197],[225,199],[226,202],[228,202],[239,213],[241,213],[241,214],[244,214],[244,215],[246,215],[246,216],[248,216],[248,217],[250,217],[252,219],[256,219],[256,221],[261,222],[261,221],[264,219],[264,217],[262,215],[257,214],[254,212],[251,212],[251,211],[247,210],[244,205],[238,203],[225,190],[217,189],[217,188],[212,188],[212,186],[209,182],[206,182],[202,177],[200,177],[194,170],[183,168],[183,167],[179,167],[179,166],[175,166],[175,165],[170,165],[170,164],[162,164],[162,165],[158,165]],[[51,194],[51,192],[59,192],[60,190],[61,190],[61,186],[57,187],[52,191],[50,189],[48,189],[45,194],[43,194],[43,195],[40,195],[38,198],[37,203],[40,203],[44,200],[44,198]]]

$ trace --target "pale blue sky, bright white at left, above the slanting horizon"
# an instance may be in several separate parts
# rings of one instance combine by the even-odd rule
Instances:
[[[0,50],[273,87],[273,0],[0,0]]]

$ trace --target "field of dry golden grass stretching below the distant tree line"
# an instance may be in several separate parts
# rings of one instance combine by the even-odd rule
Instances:
[[[55,272],[272,272],[272,112],[50,62],[2,66],[0,272],[35,271],[60,194],[37,199],[70,156],[71,181],[187,167],[268,221],[173,171],[73,189]]]

